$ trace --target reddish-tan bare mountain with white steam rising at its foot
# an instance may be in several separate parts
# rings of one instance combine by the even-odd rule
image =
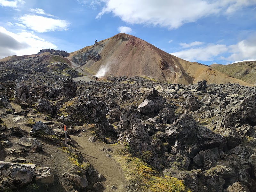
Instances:
[[[47,54],[60,57],[56,61],[63,60],[61,54],[56,55],[46,50],[37,55],[9,56],[0,61]],[[124,33],[100,42],[95,41],[93,45],[71,52],[69,57],[65,56],[64,63],[84,75],[142,76],[158,82],[177,84],[194,84],[197,81],[206,80],[209,84],[229,82],[252,86],[248,82],[230,77],[210,66],[175,57],[142,39]]]

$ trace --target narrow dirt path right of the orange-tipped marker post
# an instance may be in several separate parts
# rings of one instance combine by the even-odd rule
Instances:
[[[80,145],[77,149],[84,155],[85,159],[87,159],[90,164],[92,164],[92,166],[106,178],[105,181],[102,181],[102,184],[106,188],[104,191],[113,191],[110,189],[110,186],[113,185],[117,188],[117,190],[115,190],[116,192],[127,191],[125,188],[127,183],[122,168],[115,159],[111,157],[111,153],[102,150],[102,148],[111,148],[112,150],[115,150],[122,146],[108,145],[100,141],[92,143],[88,141],[88,138],[91,136],[90,133],[82,132],[81,135],[81,137],[73,137],[72,140]],[[107,156],[108,154],[110,154],[110,157]]]

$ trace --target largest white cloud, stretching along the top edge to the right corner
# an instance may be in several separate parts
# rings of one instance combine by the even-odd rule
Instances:
[[[179,28],[185,23],[209,15],[230,14],[245,6],[255,5],[255,0],[102,0],[104,8],[97,15],[112,12],[116,17],[130,24]]]

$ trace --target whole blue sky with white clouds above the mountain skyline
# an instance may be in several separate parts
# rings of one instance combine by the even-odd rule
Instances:
[[[0,0],[0,59],[119,32],[207,65],[256,60],[256,0]]]

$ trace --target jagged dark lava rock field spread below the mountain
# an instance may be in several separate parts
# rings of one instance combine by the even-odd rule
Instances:
[[[193,191],[256,191],[255,87],[206,81],[167,84],[125,76],[75,82],[50,72],[47,63],[38,64],[41,57],[46,56],[28,59],[22,69],[16,61],[0,64],[1,116],[13,113],[9,102],[14,100],[24,110],[59,121],[52,125],[55,131],[37,122],[33,132],[54,135],[63,123],[69,132],[87,124],[98,139],[119,142],[162,174],[184,180]],[[0,123],[0,130],[6,129]],[[67,172],[68,180],[74,170],[79,168]],[[27,171],[30,178],[33,170]]]

